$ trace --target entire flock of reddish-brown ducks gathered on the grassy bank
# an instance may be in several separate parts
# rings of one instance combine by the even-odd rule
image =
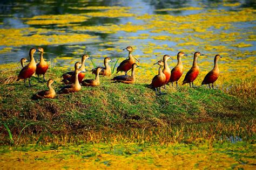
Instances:
[[[39,79],[40,75],[43,75],[43,79],[45,81],[45,73],[48,70],[48,63],[44,60],[43,58],[43,53],[44,49],[39,47],[37,48],[38,51],[40,52],[40,62],[36,63],[33,55],[36,52],[36,48],[31,48],[29,51],[29,56],[30,56],[30,62],[28,65],[24,66],[24,63],[27,61],[25,58],[21,59],[21,65],[22,65],[22,70],[19,72],[18,79],[17,81],[23,79],[24,84],[26,86],[26,79],[29,79],[29,87],[31,87],[31,82],[30,82],[30,77],[33,74],[36,74],[38,76],[38,82],[41,82]],[[134,56],[132,56],[132,51],[133,48],[131,46],[126,47],[123,49],[124,51],[129,52],[129,58],[122,61],[120,65],[117,67],[117,73],[118,72],[125,72],[125,75],[119,75],[113,77],[111,79],[114,82],[122,82],[122,83],[127,83],[127,84],[132,84],[136,81],[135,78],[135,69],[139,67],[136,64],[136,60],[139,62],[138,59],[136,59]],[[194,53],[194,59],[193,59],[193,65],[191,69],[187,72],[183,84],[185,83],[190,83],[190,87],[192,84],[192,87],[194,87],[194,80],[197,79],[197,76],[199,74],[199,67],[197,65],[197,59],[201,54],[200,52],[195,52]],[[184,52],[179,52],[177,54],[177,60],[178,63],[177,65],[171,70],[168,66],[167,60],[172,59],[170,55],[164,55],[163,60],[159,60],[157,63],[154,63],[154,65],[159,65],[158,69],[158,75],[154,76],[152,79],[151,84],[149,87],[154,88],[156,90],[157,94],[157,88],[159,89],[159,94],[161,94],[161,87],[164,87],[167,83],[172,83],[176,82],[176,86],[178,87],[178,81],[180,77],[183,75],[184,67],[181,62],[181,58],[183,56],[186,56]],[[214,89],[213,83],[218,79],[219,77],[219,67],[218,67],[218,59],[221,58],[220,55],[215,55],[214,58],[214,67],[213,69],[205,76],[203,84],[208,84],[209,88],[211,89],[210,84],[212,84],[212,88]],[[62,82],[67,84],[64,86],[62,89],[58,91],[58,94],[68,94],[68,93],[74,93],[76,91],[79,91],[82,89],[82,86],[99,86],[100,81],[99,81],[99,75],[102,76],[110,76],[111,75],[111,67],[109,66],[109,62],[113,62],[110,58],[105,58],[104,59],[104,66],[105,67],[97,67],[95,69],[92,69],[91,72],[92,74],[95,74],[95,79],[86,79],[83,80],[85,77],[85,60],[86,59],[91,59],[89,55],[83,55],[82,56],[82,62],[76,62],[75,63],[75,70],[73,72],[67,72],[62,75],[63,80]],[[127,75],[127,72],[132,69],[131,75]],[[55,98],[56,92],[55,90],[51,87],[51,84],[54,81],[52,79],[48,80],[48,89],[49,90],[44,90],[40,91],[39,93],[35,94],[33,97],[39,99],[39,98]],[[81,86],[82,84],[82,86]]]

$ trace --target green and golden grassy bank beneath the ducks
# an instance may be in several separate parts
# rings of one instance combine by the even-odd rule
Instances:
[[[255,133],[255,82],[234,84],[228,91],[206,87],[172,88],[156,96],[147,84],[151,77],[137,76],[136,84],[100,79],[99,87],[83,87],[75,94],[53,100],[32,100],[46,83],[24,87],[16,82],[19,69],[2,70],[1,144],[79,143],[82,141],[184,141],[223,140],[231,136],[251,140]],[[64,70],[50,68],[48,75],[60,89]],[[87,74],[86,78],[94,77]],[[5,124],[5,126],[4,126]]]

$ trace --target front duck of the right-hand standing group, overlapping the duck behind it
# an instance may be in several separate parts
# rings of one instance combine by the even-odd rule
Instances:
[[[158,69],[158,75],[153,77],[150,86],[156,90],[157,95],[157,88],[159,88],[159,94],[161,94],[161,87],[165,84],[166,77],[161,69],[164,66],[164,61],[159,60],[157,63],[154,63],[154,65],[159,65],[160,67]]]

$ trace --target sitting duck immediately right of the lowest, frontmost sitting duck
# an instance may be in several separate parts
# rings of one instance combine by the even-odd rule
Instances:
[[[67,94],[67,93],[74,93],[76,91],[79,91],[82,89],[82,86],[80,85],[78,81],[78,74],[83,72],[81,69],[75,70],[75,83],[69,84],[68,86],[63,87],[58,91],[59,94]]]

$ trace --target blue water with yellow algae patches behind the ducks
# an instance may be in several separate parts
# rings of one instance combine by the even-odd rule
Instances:
[[[203,73],[220,54],[221,73],[255,77],[254,1],[3,1],[1,6],[1,64],[17,63],[28,58],[31,47],[41,46],[52,66],[73,68],[84,53],[102,65],[106,56],[126,58],[122,49],[130,45],[145,66],[139,74],[152,74],[153,62],[164,54],[176,59],[179,51],[188,54],[183,62],[189,68],[200,51]],[[233,74],[241,65],[242,72]]]

